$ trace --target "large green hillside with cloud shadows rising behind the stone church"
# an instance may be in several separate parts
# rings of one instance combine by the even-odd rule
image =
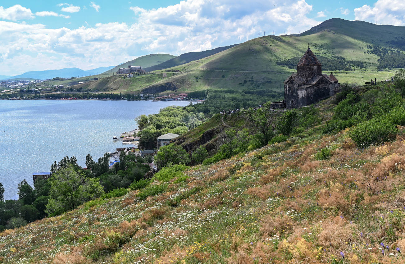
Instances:
[[[358,32],[362,30],[365,33],[359,34]],[[353,67],[351,71],[333,70],[341,83],[361,84],[374,78],[379,81],[390,79],[396,69],[377,71],[378,56],[364,53],[367,51],[367,45],[375,44],[377,41],[371,36],[371,32],[381,36],[377,38],[378,44],[385,47],[384,45],[388,44],[384,41],[396,41],[403,36],[405,30],[403,27],[330,19],[301,36],[255,38],[202,59],[155,70],[153,77],[145,75],[134,77],[130,82],[121,79],[121,83],[116,82],[114,85],[103,87],[93,85],[91,89],[117,92],[122,92],[122,87],[125,87],[125,91],[133,92],[191,92],[209,88],[268,89],[281,96],[283,81],[295,69],[277,65],[277,61],[301,57],[308,45],[318,56],[327,58],[342,56],[347,60],[364,63],[364,68]],[[167,73],[167,78],[162,77],[164,72]],[[330,70],[324,72],[329,73]],[[254,83],[246,83],[252,77]]]

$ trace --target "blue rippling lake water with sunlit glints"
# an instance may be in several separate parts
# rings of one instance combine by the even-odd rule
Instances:
[[[15,198],[17,185],[33,172],[49,172],[54,161],[75,155],[85,167],[87,153],[95,161],[115,151],[113,136],[137,128],[138,115],[158,113],[188,101],[0,100],[0,182],[5,199]]]

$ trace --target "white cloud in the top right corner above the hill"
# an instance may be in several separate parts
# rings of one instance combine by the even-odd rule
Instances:
[[[355,20],[405,26],[405,2],[403,0],[378,0],[374,7],[367,4],[354,9]]]

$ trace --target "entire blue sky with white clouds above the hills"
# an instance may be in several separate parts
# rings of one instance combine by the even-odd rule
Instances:
[[[298,33],[334,17],[405,25],[405,1],[0,0],[0,75],[117,65],[266,35]]]

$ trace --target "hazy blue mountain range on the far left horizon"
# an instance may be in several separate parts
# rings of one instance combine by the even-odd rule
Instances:
[[[87,76],[87,75],[96,75],[98,73],[102,73],[107,70],[110,70],[114,67],[115,66],[99,67],[99,68],[95,68],[92,70],[82,70],[79,68],[64,68],[64,69],[59,69],[59,70],[36,70],[36,71],[24,72],[23,74],[16,75],[16,76],[0,75],[0,79],[12,80],[12,79],[18,78],[21,80],[21,78],[31,78],[31,79],[45,80],[45,79],[52,79],[55,77],[62,77],[62,78],[82,77],[82,76]]]

